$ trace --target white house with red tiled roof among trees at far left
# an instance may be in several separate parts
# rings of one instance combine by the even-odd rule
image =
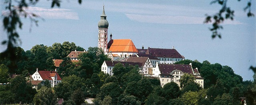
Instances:
[[[49,80],[51,87],[56,86],[62,80],[56,69],[55,71],[38,71],[37,68],[36,72],[32,74],[30,78],[30,82],[32,83],[32,85],[38,85],[39,83],[41,83],[41,85],[44,85],[44,82],[46,80]]]

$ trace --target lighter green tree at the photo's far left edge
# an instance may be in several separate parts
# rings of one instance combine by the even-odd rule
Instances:
[[[8,68],[4,65],[0,65],[0,83],[7,83],[8,81]]]

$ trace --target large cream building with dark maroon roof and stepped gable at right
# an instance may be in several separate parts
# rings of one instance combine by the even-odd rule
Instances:
[[[190,65],[179,65],[179,64],[156,64],[156,67],[153,69],[153,73],[159,73],[160,83],[163,87],[166,83],[171,81],[177,83],[180,86],[180,78],[184,73],[192,74],[202,88],[204,88],[204,79],[200,76],[198,69],[192,68],[192,63]]]

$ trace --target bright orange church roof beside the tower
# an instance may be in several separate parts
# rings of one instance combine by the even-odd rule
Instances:
[[[130,39],[110,40],[108,42],[109,52],[136,52],[137,48]]]

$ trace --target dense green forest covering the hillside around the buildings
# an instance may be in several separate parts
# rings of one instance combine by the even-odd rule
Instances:
[[[202,63],[197,60],[183,60],[175,64],[192,63],[204,78],[204,89],[185,74],[178,87],[174,82],[160,86],[160,80],[142,77],[138,66],[118,63],[114,75],[101,72],[105,60],[110,60],[97,47],[89,47],[87,53],[79,55],[80,61],[72,62],[67,55],[71,51],[84,51],[73,42],[54,43],[52,46],[36,45],[24,51],[15,48],[16,59],[0,59],[0,104],[25,103],[32,105],[247,105],[256,104],[256,75],[254,81],[243,81],[228,65]],[[2,54],[2,53],[0,53]],[[46,82],[33,89],[28,81],[36,68],[54,71],[53,59],[63,59],[57,72],[62,78],[54,88]],[[18,76],[11,78],[11,74]],[[86,103],[85,97],[95,98],[93,104]]]

